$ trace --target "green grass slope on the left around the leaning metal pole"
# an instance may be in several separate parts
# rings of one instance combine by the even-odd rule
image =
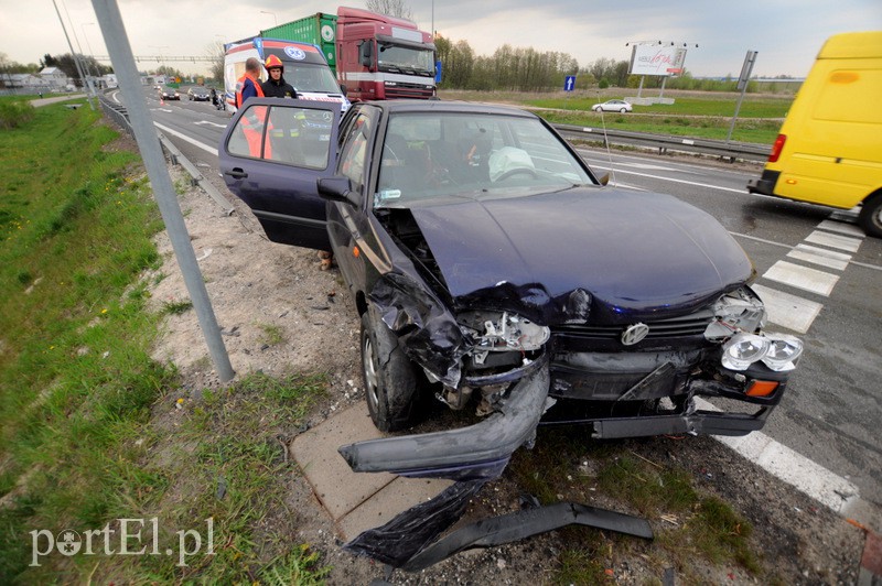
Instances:
[[[0,133],[0,576],[321,579],[316,554],[260,521],[290,477],[273,433],[322,379],[182,391],[150,357],[158,321],[189,305],[148,310],[162,224],[138,156],[88,108],[22,111]]]

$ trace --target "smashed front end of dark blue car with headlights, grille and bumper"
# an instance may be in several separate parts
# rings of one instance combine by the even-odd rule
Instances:
[[[408,356],[443,383],[439,400],[451,409],[476,404],[488,416],[471,427],[342,447],[356,471],[496,477],[530,444],[540,419],[585,424],[596,438],[745,435],[763,427],[802,354],[797,338],[762,329],[765,308],[746,285],[693,314],[627,326],[591,325],[590,295],[577,290],[561,304],[569,323],[549,327],[505,310],[454,316],[428,289],[402,287],[408,281],[380,280],[372,301],[386,310]],[[696,397],[753,409],[700,410]]]

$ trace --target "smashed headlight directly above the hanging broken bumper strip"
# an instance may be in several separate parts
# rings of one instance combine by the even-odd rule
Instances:
[[[551,337],[547,326],[508,312],[464,312],[459,322],[477,343],[477,350],[538,350]]]

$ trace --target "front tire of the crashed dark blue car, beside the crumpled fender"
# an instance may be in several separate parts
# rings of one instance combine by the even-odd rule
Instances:
[[[367,411],[377,430],[395,432],[426,419],[431,394],[398,338],[375,306],[362,315],[362,377]]]

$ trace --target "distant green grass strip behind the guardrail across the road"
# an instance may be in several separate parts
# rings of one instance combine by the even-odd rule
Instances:
[[[515,93],[461,93],[448,91],[442,97],[476,101],[507,101],[524,108],[533,108],[549,122],[576,124],[592,128],[606,127],[615,130],[649,132],[653,134],[674,134],[701,139],[725,140],[738,97],[732,94],[710,94],[696,97],[677,96],[671,105],[634,106],[633,113],[621,115],[591,110],[591,106],[611,97],[635,94],[633,89],[617,89],[617,94],[591,96],[552,96]],[[656,90],[647,90],[647,96]],[[772,144],[781,129],[782,119],[787,115],[793,96],[746,95],[735,120],[732,140]]]

